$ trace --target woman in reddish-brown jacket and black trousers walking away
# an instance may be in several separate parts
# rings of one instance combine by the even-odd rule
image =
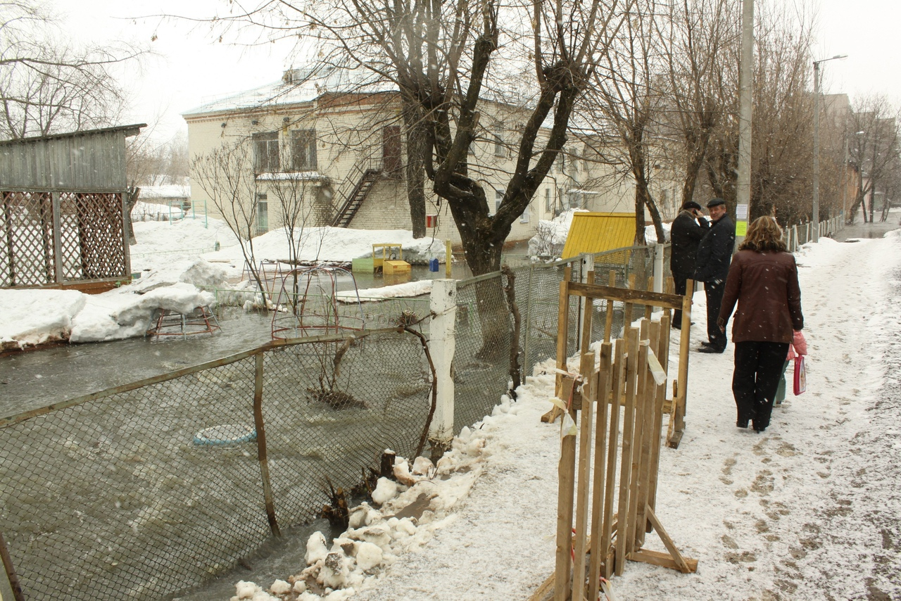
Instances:
[[[782,230],[772,217],[751,223],[733,257],[717,322],[723,332],[736,302],[735,425],[747,428],[751,422],[761,433],[769,425],[792,332],[804,328],[795,257],[786,252]]]

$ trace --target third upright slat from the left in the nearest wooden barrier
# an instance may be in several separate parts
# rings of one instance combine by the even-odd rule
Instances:
[[[611,344],[605,341],[601,344],[600,367],[596,373],[595,396],[606,400],[610,390],[610,381],[613,371],[611,364]],[[601,560],[606,550],[601,545],[601,523],[603,521],[603,509],[605,501],[604,476],[606,467],[606,438],[607,438],[607,414],[609,405],[601,402],[596,405],[595,419],[595,473],[592,485],[591,497],[591,547],[589,550],[590,562],[588,567],[588,597],[596,599],[598,583],[601,576]],[[616,452],[612,449],[610,452]],[[602,552],[603,551],[603,552]]]

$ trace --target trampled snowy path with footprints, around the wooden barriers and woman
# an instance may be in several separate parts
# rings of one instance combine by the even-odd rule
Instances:
[[[630,562],[613,580],[617,599],[901,598],[899,404],[879,398],[901,360],[901,232],[821,239],[796,256],[807,392],[789,395],[766,433],[739,430],[732,346],[692,352],[687,429],[678,450],[662,451],[657,514],[698,569]],[[696,347],[703,292],[694,300]],[[309,568],[277,583],[239,582],[233,598],[528,598],[554,560],[560,425],[539,420],[551,406],[551,368],[538,366],[515,402],[465,429],[437,472],[420,466],[412,487],[380,487],[380,510],[359,508],[357,528],[331,548],[314,535]],[[409,465],[399,470],[406,478]],[[428,504],[418,523],[388,517],[420,514],[422,505],[404,510],[416,499]],[[663,551],[653,533],[647,544]],[[296,584],[305,576],[329,588],[314,595],[312,579]]]

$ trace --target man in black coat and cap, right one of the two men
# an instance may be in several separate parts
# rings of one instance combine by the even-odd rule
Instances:
[[[716,320],[720,316],[720,305],[729,263],[735,250],[735,223],[726,214],[726,202],[714,198],[707,203],[710,220],[713,222],[697,246],[695,260],[695,281],[704,282],[707,296],[707,342],[701,342],[701,352],[723,352],[726,349],[726,334],[721,332]]]

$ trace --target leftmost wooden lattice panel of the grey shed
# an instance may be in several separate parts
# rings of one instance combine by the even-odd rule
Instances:
[[[0,286],[41,286],[56,281],[50,194],[4,192],[2,197]]]

